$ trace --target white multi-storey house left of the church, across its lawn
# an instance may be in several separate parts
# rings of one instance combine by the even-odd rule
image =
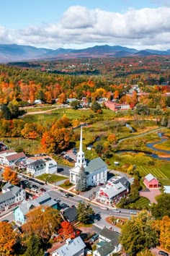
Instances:
[[[57,172],[57,162],[52,158],[42,158],[27,164],[27,174],[39,176]]]

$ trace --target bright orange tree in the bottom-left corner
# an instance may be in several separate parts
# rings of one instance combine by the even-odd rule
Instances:
[[[0,230],[0,255],[12,255],[14,245],[17,243],[17,234],[6,221],[0,221]]]

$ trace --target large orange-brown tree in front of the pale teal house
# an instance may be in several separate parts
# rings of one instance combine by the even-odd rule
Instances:
[[[53,233],[57,233],[61,223],[61,216],[58,210],[47,206],[39,206],[27,213],[27,223],[22,230],[28,235],[35,235],[48,242]]]

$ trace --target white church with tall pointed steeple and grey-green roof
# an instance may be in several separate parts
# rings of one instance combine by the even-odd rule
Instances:
[[[96,186],[100,183],[107,182],[107,164],[104,163],[102,158],[94,158],[93,160],[86,162],[83,152],[82,142],[82,126],[80,135],[80,148],[77,154],[77,160],[75,166],[70,169],[70,182],[76,184],[79,178],[80,168],[84,168],[86,172],[86,184],[87,186]]]

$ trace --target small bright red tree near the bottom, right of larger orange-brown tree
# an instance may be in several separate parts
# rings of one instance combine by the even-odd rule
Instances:
[[[63,221],[61,223],[61,229],[58,230],[58,234],[61,236],[63,241],[65,241],[68,238],[74,239],[75,231],[73,225],[68,221]]]

